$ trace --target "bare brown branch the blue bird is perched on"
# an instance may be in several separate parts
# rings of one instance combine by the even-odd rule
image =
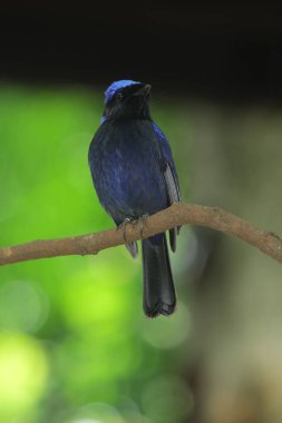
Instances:
[[[262,230],[217,207],[174,204],[169,208],[148,217],[143,230],[143,238],[185,224],[206,226],[223,232],[251,244],[282,263],[282,239],[279,236]],[[128,224],[126,226],[126,239],[127,242],[140,239],[140,226]],[[0,248],[0,266],[36,258],[98,254],[105,248],[121,244],[125,244],[124,233],[117,229],[69,238],[33,240]]]

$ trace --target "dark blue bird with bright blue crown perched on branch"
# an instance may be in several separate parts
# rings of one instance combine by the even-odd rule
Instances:
[[[100,126],[89,146],[94,187],[117,227],[181,201],[169,144],[150,116],[150,85],[130,79],[110,83]],[[169,230],[173,252],[178,233],[179,227]],[[126,246],[137,257],[137,243]],[[169,316],[176,308],[176,292],[166,234],[142,239],[142,255],[144,313],[147,317]]]

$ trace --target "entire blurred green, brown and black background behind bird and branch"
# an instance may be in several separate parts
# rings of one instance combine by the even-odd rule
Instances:
[[[113,227],[88,146],[114,80],[153,85],[184,201],[282,234],[281,11],[3,1],[0,246]],[[124,247],[0,269],[0,422],[281,423],[281,267],[183,227],[178,308],[142,311]]]

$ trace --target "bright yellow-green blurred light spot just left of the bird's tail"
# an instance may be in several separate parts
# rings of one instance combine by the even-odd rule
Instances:
[[[69,324],[79,331],[126,317],[132,306],[130,282],[139,270],[133,263],[125,267],[118,250],[105,252],[108,260],[88,260],[68,281],[64,311]],[[94,263],[95,260],[95,263]]]

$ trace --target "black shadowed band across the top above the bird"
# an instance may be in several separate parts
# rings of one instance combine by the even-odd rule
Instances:
[[[232,101],[281,100],[281,12],[271,4],[1,4],[0,76],[107,85]]]

